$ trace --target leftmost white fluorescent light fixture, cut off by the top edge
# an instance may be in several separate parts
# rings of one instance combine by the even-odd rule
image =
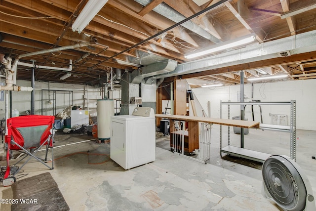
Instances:
[[[72,30],[80,34],[107,2],[108,0],[89,0],[73,23]]]

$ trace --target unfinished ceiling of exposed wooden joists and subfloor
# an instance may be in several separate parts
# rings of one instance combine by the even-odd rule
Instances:
[[[262,44],[316,30],[315,0],[109,0],[79,34],[71,26],[86,2],[1,0],[0,46],[5,55],[13,62],[18,55],[96,39],[94,45],[26,56],[19,61],[38,65],[36,81],[99,85],[107,81],[111,69],[132,72],[166,59],[176,60],[178,66],[190,64],[193,59],[185,55],[243,36],[255,35]],[[202,10],[208,11],[178,24]],[[71,71],[40,68],[69,68],[70,60]],[[295,55],[281,51],[278,58],[262,57],[254,62],[255,69],[247,61],[170,77],[197,78],[205,84],[239,84],[238,71],[244,70],[246,78],[263,73],[288,75],[281,80],[316,78],[314,50]],[[18,65],[17,79],[30,81],[30,69]],[[67,73],[72,76],[60,80]]]

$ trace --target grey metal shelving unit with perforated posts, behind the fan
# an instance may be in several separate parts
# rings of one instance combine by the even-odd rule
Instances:
[[[263,130],[274,130],[280,132],[290,133],[290,157],[295,161],[296,152],[296,101],[291,100],[289,102],[222,102],[220,107],[220,118],[222,118],[222,105],[228,105],[228,119],[230,119],[230,105],[286,105],[290,106],[290,125],[289,126],[279,126],[279,125],[268,125],[260,124],[260,129]],[[253,150],[244,149],[243,145],[241,147],[231,146],[231,135],[230,127],[228,126],[228,146],[222,148],[222,125],[220,126],[220,153],[234,155],[237,157],[246,158],[253,161],[264,162],[270,154],[257,152]],[[243,134],[240,135],[240,141],[243,141]]]

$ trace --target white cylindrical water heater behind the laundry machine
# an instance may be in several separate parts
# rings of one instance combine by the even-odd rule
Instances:
[[[114,100],[102,99],[97,101],[97,131],[98,139],[106,140],[111,137],[111,116],[114,116]]]

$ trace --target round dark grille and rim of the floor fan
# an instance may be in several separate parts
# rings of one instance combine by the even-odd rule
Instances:
[[[271,156],[262,166],[264,184],[275,202],[286,210],[304,210],[306,188],[293,165],[280,156]]]

